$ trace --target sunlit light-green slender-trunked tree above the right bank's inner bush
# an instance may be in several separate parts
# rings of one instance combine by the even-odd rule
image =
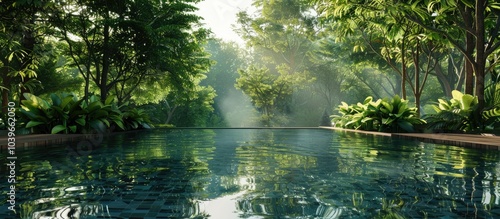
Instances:
[[[407,99],[406,92],[411,91],[420,109],[425,85],[439,61],[436,54],[447,48],[439,36],[407,18],[410,8],[417,12],[422,8],[402,1],[315,2],[340,37],[358,36],[354,50],[368,48],[399,74],[402,97]]]

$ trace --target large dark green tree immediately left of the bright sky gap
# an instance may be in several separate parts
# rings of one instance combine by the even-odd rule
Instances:
[[[192,77],[210,62],[200,42],[206,30],[191,3],[180,1],[65,1],[53,17],[69,54],[101,98],[120,102],[144,84],[193,87]],[[91,84],[92,82],[92,84]],[[166,95],[166,94],[165,94]]]

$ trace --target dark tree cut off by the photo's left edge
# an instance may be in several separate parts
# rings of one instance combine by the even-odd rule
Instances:
[[[3,0],[0,4],[0,90],[6,113],[12,89],[19,85],[25,90],[24,84],[36,77],[43,39],[39,16],[49,4],[45,0]]]

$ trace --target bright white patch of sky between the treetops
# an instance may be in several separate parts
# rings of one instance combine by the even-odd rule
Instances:
[[[236,13],[252,10],[252,0],[204,0],[196,7],[203,17],[202,23],[210,28],[217,38],[243,45],[243,40],[232,30],[236,24]]]

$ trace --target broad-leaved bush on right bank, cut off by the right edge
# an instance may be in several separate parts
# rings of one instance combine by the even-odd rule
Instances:
[[[495,87],[498,95],[498,88]],[[487,92],[488,93],[488,92]],[[493,95],[493,96],[491,96]],[[438,99],[432,107],[435,114],[425,117],[428,129],[435,132],[476,132],[494,129],[500,123],[500,105],[496,104],[495,94],[487,95],[487,106],[481,112],[481,118],[475,118],[478,109],[477,97],[452,91],[452,99]]]

